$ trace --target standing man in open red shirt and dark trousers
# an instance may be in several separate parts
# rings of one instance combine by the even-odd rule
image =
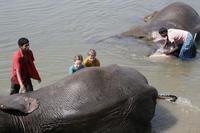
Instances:
[[[20,38],[18,46],[19,50],[13,56],[10,95],[33,91],[31,78],[38,80],[39,83],[41,82],[39,73],[34,65],[33,53],[29,49],[29,40]]]

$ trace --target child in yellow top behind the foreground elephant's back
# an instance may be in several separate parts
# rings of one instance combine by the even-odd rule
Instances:
[[[83,61],[83,64],[86,67],[94,67],[94,66],[99,67],[100,61],[96,58],[96,55],[97,55],[96,51],[94,49],[89,49],[87,54],[88,54],[88,57]]]

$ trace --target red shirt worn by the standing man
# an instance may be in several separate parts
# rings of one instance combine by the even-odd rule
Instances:
[[[27,80],[30,78],[40,80],[39,73],[37,72],[34,65],[34,57],[31,50],[27,51],[27,58],[28,59],[26,61],[21,49],[14,53],[11,79],[15,84],[19,84],[16,72],[17,69],[20,70],[22,82],[24,84],[27,83]]]

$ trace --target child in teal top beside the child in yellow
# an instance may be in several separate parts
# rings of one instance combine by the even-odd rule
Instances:
[[[85,66],[82,64],[82,62],[83,62],[82,55],[74,56],[74,65],[69,67],[69,74],[75,73],[76,71],[84,68]]]

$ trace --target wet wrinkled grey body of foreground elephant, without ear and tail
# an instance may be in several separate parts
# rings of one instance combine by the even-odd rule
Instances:
[[[133,68],[111,65],[7,98],[19,96],[37,99],[39,108],[29,114],[0,110],[1,133],[148,133],[157,91]]]

